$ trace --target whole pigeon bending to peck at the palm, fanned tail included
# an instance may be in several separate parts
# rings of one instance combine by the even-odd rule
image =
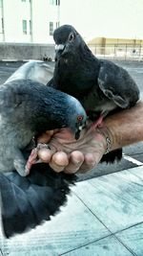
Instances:
[[[54,174],[48,164],[31,165],[31,173],[27,170],[33,136],[48,129],[71,128],[78,139],[86,118],[75,98],[38,81],[1,85],[0,198],[6,237],[50,220],[72,184],[72,176]]]

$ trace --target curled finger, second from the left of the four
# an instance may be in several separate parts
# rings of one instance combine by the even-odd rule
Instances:
[[[57,151],[51,157],[50,166],[57,173],[62,172],[68,164],[68,154],[63,151]]]

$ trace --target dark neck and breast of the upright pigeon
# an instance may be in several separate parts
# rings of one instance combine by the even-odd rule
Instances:
[[[54,86],[80,100],[80,97],[85,96],[94,85],[98,70],[98,59],[94,58],[84,43],[76,49],[74,55],[69,53],[67,61],[63,58],[56,61]]]

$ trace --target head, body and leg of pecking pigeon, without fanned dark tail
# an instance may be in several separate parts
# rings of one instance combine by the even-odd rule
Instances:
[[[76,99],[31,80],[0,87],[0,117],[0,170],[15,169],[20,175],[29,171],[21,150],[33,136],[47,129],[71,128],[78,137],[86,122],[85,110]]]

